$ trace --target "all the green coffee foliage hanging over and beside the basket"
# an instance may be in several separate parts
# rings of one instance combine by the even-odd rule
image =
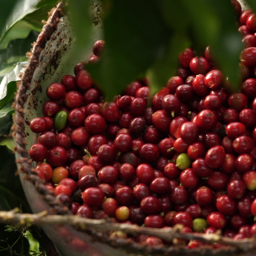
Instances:
[[[41,30],[41,20],[56,0],[2,1],[0,11],[0,210],[20,207],[30,212],[16,175],[11,138],[11,108],[18,73],[26,64],[26,52]],[[248,0],[256,11],[256,2]],[[237,31],[236,14],[229,0],[140,0],[101,2],[103,39],[106,41],[100,62],[88,66],[105,95],[113,95],[140,76],[147,76],[152,93],[164,87],[175,75],[178,54],[191,47],[200,55],[207,45],[216,61],[229,77],[232,88],[239,86],[241,36]],[[90,38],[90,1],[72,0],[68,6],[78,38],[78,47]],[[25,236],[24,236],[25,233]],[[33,237],[38,242],[34,242]],[[29,238],[29,240],[27,239]],[[39,227],[27,228],[0,225],[1,255],[37,255],[44,253],[44,232]],[[29,241],[29,242],[28,242]],[[40,245],[40,248],[39,248]],[[33,250],[33,252],[29,252]],[[39,254],[38,254],[39,255]]]

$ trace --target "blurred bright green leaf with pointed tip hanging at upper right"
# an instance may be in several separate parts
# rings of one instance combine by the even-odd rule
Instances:
[[[237,90],[240,86],[238,63],[243,45],[230,2],[184,0],[182,4],[193,20],[196,43],[211,46],[220,69],[229,77],[233,90]]]

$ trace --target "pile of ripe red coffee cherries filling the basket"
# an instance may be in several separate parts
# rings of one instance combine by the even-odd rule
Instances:
[[[239,92],[227,89],[210,47],[204,56],[185,49],[177,76],[153,97],[143,79],[104,102],[86,62],[74,67],[75,76],[50,84],[44,117],[30,122],[38,138],[29,154],[74,215],[155,228],[181,224],[181,232],[234,240],[256,235],[256,17],[237,11],[245,47]],[[103,47],[95,42],[89,62]],[[167,243],[117,231],[110,237]]]

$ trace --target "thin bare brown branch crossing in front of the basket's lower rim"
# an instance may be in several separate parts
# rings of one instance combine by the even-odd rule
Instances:
[[[12,225],[53,225],[66,224],[71,225],[79,230],[97,230],[105,231],[123,231],[132,235],[138,233],[148,234],[150,236],[159,237],[167,241],[173,241],[174,238],[186,240],[199,240],[208,244],[221,243],[225,245],[235,246],[243,251],[256,248],[256,239],[248,238],[234,241],[231,238],[225,238],[219,234],[201,234],[201,233],[181,233],[181,225],[174,228],[149,228],[138,225],[112,223],[108,220],[94,220],[76,216],[48,215],[46,211],[39,214],[18,214],[19,209],[15,208],[11,211],[0,211],[0,223],[8,223]]]

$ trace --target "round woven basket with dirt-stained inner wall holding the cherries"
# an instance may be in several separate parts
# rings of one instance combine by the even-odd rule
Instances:
[[[69,17],[63,15],[62,8],[62,3],[59,3],[39,34],[15,100],[13,134],[16,162],[25,195],[35,214],[44,210],[50,215],[71,215],[71,212],[68,207],[56,200],[33,171],[32,162],[28,157],[28,149],[36,142],[37,136],[30,131],[29,121],[36,116],[41,116],[42,104],[47,100],[45,89],[49,84],[59,81],[62,75],[73,74],[75,64],[89,59],[94,42],[102,39],[101,8],[99,3],[94,1],[91,5],[94,23],[92,24],[93,33],[90,44],[88,49],[84,49],[79,55],[74,55],[73,49],[76,47],[76,38]],[[68,67],[63,63],[69,63],[70,65]],[[250,256],[256,253],[252,244],[254,240],[251,239],[247,240],[247,247],[243,246],[244,250],[239,246],[240,242],[227,243],[229,245],[216,249],[213,249],[210,245],[195,249],[173,245],[146,247],[129,240],[113,240],[106,233],[100,233],[92,229],[82,232],[68,225],[42,225],[42,228],[63,256],[174,256],[181,254],[189,256],[199,254]],[[174,236],[179,237],[179,232],[177,231]],[[187,238],[189,238],[189,234],[187,234]]]

